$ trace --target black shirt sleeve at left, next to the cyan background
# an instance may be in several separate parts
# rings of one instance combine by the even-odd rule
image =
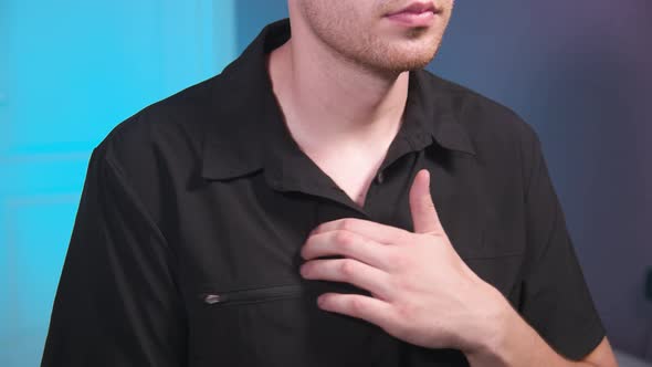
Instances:
[[[172,253],[103,148],[88,162],[41,365],[182,366]]]

